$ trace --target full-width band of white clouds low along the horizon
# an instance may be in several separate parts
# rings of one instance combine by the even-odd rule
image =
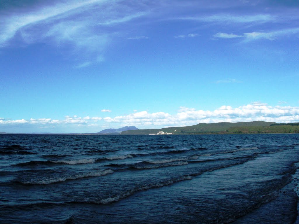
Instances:
[[[268,121],[277,123],[299,122],[299,107],[270,106],[265,103],[254,102],[248,105],[232,108],[223,105],[214,111],[196,110],[195,108],[180,107],[178,113],[166,112],[149,113],[147,111],[134,112],[115,117],[98,116],[65,116],[64,119],[0,119],[0,128],[5,130],[9,126],[22,129],[22,125],[30,125],[36,131],[47,127],[67,126],[80,127],[82,130],[96,130],[104,127],[136,126],[139,129],[164,128],[171,126],[189,126],[198,123]],[[1,131],[2,131],[1,130]],[[21,132],[21,131],[20,131]]]

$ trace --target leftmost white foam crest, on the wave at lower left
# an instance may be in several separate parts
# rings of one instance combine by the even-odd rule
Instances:
[[[46,185],[51,183],[58,183],[58,182],[64,182],[66,180],[75,180],[80,179],[84,177],[100,177],[106,174],[112,174],[113,170],[108,169],[104,171],[98,171],[98,172],[90,172],[90,173],[83,173],[83,174],[77,174],[69,177],[58,177],[58,178],[52,178],[52,179],[43,179],[43,180],[35,180],[35,181],[26,181],[23,182],[24,184],[39,184],[39,185]]]

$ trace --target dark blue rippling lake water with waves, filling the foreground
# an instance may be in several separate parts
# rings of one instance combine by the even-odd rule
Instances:
[[[299,134],[0,135],[0,223],[298,223]]]

